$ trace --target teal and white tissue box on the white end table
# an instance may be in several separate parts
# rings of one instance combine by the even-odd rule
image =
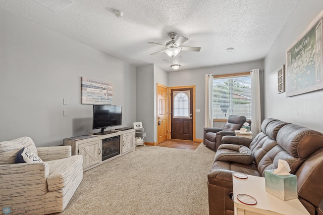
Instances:
[[[287,201],[295,199],[297,195],[297,180],[293,174],[287,176],[276,175],[274,170],[264,172],[265,190],[274,196]]]

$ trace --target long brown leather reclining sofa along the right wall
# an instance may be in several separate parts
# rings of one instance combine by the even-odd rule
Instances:
[[[214,161],[208,174],[209,214],[234,214],[232,173],[264,177],[265,170],[277,169],[284,159],[297,176],[298,199],[310,214],[321,214],[323,198],[323,134],[276,119],[265,119],[253,139],[225,136],[222,144],[249,147],[254,156],[250,165]]]

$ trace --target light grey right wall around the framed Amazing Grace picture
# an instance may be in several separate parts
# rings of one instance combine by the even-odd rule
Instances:
[[[276,118],[323,132],[323,90],[292,97],[277,93],[277,69],[285,63],[286,49],[323,9],[321,0],[303,0],[264,59],[265,118]]]

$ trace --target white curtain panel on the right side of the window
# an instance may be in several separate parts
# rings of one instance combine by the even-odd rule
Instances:
[[[260,105],[260,75],[259,69],[250,71],[251,75],[251,131],[255,137],[260,133],[261,126],[261,105]]]

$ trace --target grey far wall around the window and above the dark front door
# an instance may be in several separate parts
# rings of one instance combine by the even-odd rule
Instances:
[[[240,73],[247,72],[252,69],[263,70],[263,61],[253,61],[240,64],[169,72],[169,87],[195,85],[195,109],[200,109],[201,111],[200,113],[195,113],[195,131],[197,139],[203,139],[205,74],[221,75],[230,73]],[[223,127],[223,124],[214,124],[214,127]]]

